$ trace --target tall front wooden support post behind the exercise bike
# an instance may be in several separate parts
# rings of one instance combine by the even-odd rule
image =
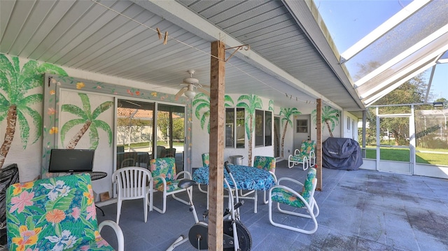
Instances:
[[[223,250],[225,45],[211,43],[209,250]],[[214,57],[213,57],[214,56]],[[217,58],[216,58],[217,57]]]

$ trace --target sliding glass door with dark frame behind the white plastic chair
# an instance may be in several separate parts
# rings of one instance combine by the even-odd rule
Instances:
[[[150,159],[176,158],[183,170],[185,107],[118,99],[117,166],[148,167]]]

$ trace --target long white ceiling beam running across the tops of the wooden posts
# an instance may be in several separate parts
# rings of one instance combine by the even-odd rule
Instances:
[[[165,20],[176,24],[177,26],[186,29],[186,31],[199,36],[206,41],[223,41],[228,48],[243,45],[240,41],[230,36],[216,25],[212,24],[208,20],[204,19],[200,15],[197,15],[192,10],[183,6],[183,4],[176,1],[158,1],[158,0],[131,0],[137,3],[139,6],[146,8]],[[275,64],[272,64],[264,57],[261,57],[252,50],[238,50],[235,53],[235,57],[244,60],[248,64],[265,71],[266,73],[274,76],[292,87],[295,87],[301,92],[308,94],[316,99],[322,99],[323,101],[330,101],[322,94],[316,92],[316,90],[302,83],[302,81],[294,78],[283,69],[279,68]],[[339,107],[338,107],[339,108]]]

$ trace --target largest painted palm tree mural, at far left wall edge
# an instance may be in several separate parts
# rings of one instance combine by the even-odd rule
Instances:
[[[20,129],[20,140],[23,149],[29,143],[29,120],[34,125],[34,138],[31,144],[36,143],[42,135],[42,116],[37,110],[31,108],[36,103],[41,103],[43,94],[41,91],[35,93],[36,88],[43,85],[43,73],[67,76],[66,72],[53,64],[39,63],[30,60],[22,69],[18,57],[10,57],[11,61],[0,54],[0,122],[6,119],[6,130],[4,141],[0,148],[0,168],[5,162],[11,143],[13,143],[15,126],[18,122]],[[30,94],[34,92],[34,94]]]

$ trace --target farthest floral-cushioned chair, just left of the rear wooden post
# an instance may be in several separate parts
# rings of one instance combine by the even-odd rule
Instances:
[[[300,149],[294,150],[294,155],[289,155],[288,167],[292,168],[295,165],[302,164],[303,171],[305,171],[309,166],[314,166],[316,164],[315,148],[316,141],[302,141]]]

